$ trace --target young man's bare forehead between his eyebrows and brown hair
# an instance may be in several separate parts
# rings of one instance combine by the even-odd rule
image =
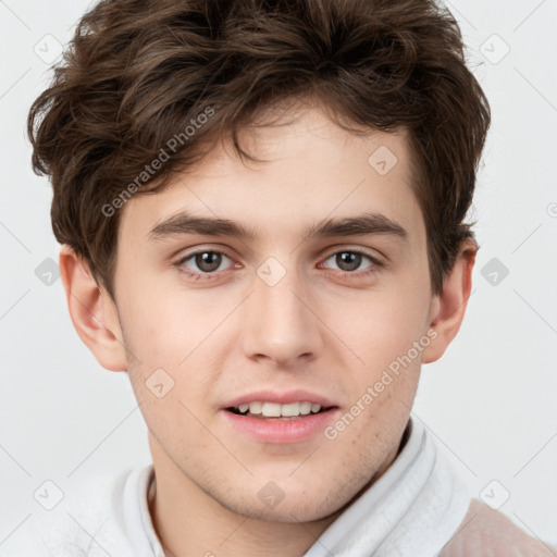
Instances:
[[[239,133],[243,149],[262,162],[242,160],[230,143],[216,144],[164,190],[128,201],[121,235],[147,240],[153,227],[181,211],[234,220],[268,238],[363,212],[398,222],[413,236],[423,233],[403,131],[358,136],[319,109],[272,116],[273,125],[256,123]]]

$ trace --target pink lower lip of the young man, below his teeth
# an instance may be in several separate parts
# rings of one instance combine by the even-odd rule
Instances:
[[[277,420],[273,418],[251,418],[222,410],[225,419],[236,430],[247,433],[261,443],[301,443],[322,433],[335,416],[338,408],[324,412],[304,416],[296,420]]]

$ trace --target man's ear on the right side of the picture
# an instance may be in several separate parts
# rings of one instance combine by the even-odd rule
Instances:
[[[422,363],[438,360],[460,329],[472,289],[476,252],[478,245],[473,239],[462,242],[455,264],[443,283],[443,292],[432,299],[430,329],[436,332],[436,337],[423,350]]]

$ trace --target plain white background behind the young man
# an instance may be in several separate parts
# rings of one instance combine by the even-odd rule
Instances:
[[[49,83],[34,51],[65,44],[88,2],[0,1],[0,554],[48,512],[46,480],[67,493],[99,469],[150,460],[125,373],[104,371],[77,337],[61,281],[51,190],[30,170],[25,119]],[[422,372],[416,419],[446,448],[473,496],[557,544],[557,1],[455,0],[471,67],[493,110],[472,219],[481,245],[459,335]],[[496,34],[499,38],[493,37]],[[483,47],[481,47],[483,45]],[[45,47],[42,47],[45,48]],[[506,48],[510,51],[502,60]],[[496,285],[481,270],[497,258]],[[556,553],[557,555],[557,553]]]

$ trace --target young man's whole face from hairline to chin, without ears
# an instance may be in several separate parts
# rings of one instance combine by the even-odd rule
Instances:
[[[318,520],[396,457],[432,338],[424,221],[403,133],[313,108],[240,143],[265,162],[220,145],[122,209],[127,370],[158,478]]]

